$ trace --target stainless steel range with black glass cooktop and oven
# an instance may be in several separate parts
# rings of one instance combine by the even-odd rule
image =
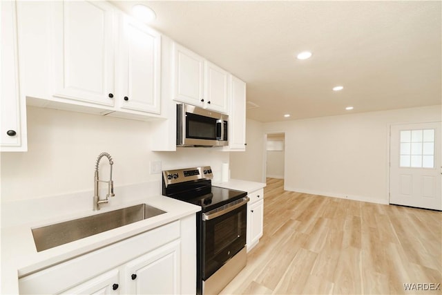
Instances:
[[[210,166],[163,171],[162,194],[197,213],[197,294],[218,294],[246,265],[247,192],[211,185]]]

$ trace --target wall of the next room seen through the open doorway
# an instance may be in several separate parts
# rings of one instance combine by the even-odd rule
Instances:
[[[278,142],[281,146],[278,146],[278,149],[274,149],[274,147],[270,147],[269,149],[269,142]],[[284,133],[267,134],[266,176],[268,178],[284,179],[284,154]]]

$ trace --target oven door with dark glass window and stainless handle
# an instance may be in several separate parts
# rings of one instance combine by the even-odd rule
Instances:
[[[247,202],[245,197],[221,211],[202,218],[202,279],[206,280],[246,245]]]

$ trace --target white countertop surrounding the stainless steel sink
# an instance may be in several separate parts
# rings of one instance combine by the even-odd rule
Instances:
[[[40,252],[37,252],[35,248],[31,228],[81,218],[92,215],[92,213],[88,211],[65,216],[63,220],[60,220],[60,218],[51,218],[40,222],[29,222],[22,225],[2,228],[1,294],[18,294],[18,278],[23,275],[44,269],[45,267],[60,263],[75,256],[86,254],[89,251],[141,234],[155,227],[166,225],[169,222],[179,220],[184,216],[189,216],[201,209],[199,206],[164,196],[141,198],[140,200],[134,200],[131,203],[121,205],[120,208],[142,203],[162,209],[166,211],[166,213]],[[115,209],[119,208],[102,209],[93,213],[104,213]]]

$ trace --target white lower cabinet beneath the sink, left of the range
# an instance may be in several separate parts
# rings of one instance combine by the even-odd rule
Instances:
[[[187,294],[196,274],[195,215],[19,278],[20,294]],[[183,236],[182,233],[186,233]],[[189,236],[190,238],[188,238]],[[195,278],[195,276],[192,276]]]

